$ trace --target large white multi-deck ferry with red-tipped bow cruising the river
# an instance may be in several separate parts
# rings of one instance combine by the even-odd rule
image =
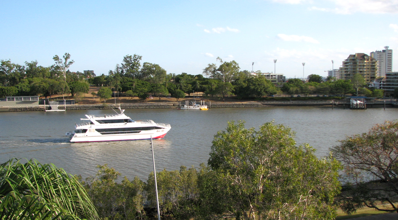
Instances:
[[[86,115],[75,130],[66,132],[70,142],[106,142],[126,140],[150,140],[163,138],[170,130],[170,124],[155,123],[152,120],[132,120],[119,107],[120,114]]]

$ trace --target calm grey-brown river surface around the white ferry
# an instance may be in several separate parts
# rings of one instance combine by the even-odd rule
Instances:
[[[0,162],[10,158],[34,158],[54,163],[70,174],[94,176],[97,165],[108,164],[132,180],[148,178],[153,170],[149,141],[70,143],[65,132],[73,130],[85,114],[111,114],[113,110],[0,113]],[[172,129],[154,140],[156,170],[207,163],[211,142],[227,121],[246,121],[246,128],[265,122],[289,126],[297,144],[308,143],[318,157],[347,135],[367,132],[374,124],[396,120],[397,108],[350,110],[331,107],[212,108],[208,111],[177,109],[126,109],[131,119],[169,123]]]

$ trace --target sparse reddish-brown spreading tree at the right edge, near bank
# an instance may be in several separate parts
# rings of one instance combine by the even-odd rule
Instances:
[[[344,166],[341,208],[346,212],[367,206],[398,212],[398,121],[376,124],[332,148]],[[381,202],[382,204],[380,204]]]

